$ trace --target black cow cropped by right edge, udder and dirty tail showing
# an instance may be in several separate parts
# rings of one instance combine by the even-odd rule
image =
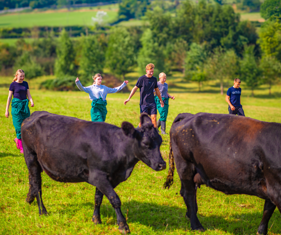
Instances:
[[[196,213],[201,184],[225,194],[265,199],[258,234],[267,234],[274,209],[281,212],[281,124],[228,114],[179,114],[170,130],[169,174],[174,160],[181,179],[181,196],[193,230],[204,231]]]

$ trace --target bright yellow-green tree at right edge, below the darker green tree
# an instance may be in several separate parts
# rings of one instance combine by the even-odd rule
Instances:
[[[259,44],[266,57],[275,57],[281,61],[281,23],[267,21],[259,33]]]

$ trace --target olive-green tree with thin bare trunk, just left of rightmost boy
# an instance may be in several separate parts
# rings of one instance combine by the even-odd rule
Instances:
[[[233,78],[237,70],[237,55],[233,49],[224,51],[221,47],[215,48],[213,54],[207,59],[205,64],[207,78],[219,79],[221,95],[223,95],[224,82]]]

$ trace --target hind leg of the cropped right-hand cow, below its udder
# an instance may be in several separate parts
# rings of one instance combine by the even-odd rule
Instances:
[[[181,180],[181,196],[184,198],[187,207],[186,216],[190,219],[190,226],[193,230],[204,231],[196,215],[198,207],[196,202],[195,183],[192,180]]]

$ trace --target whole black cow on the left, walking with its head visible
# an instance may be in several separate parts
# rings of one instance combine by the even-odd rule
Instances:
[[[117,215],[119,231],[130,232],[114,188],[127,180],[141,160],[155,171],[166,168],[161,157],[161,136],[146,114],[140,131],[129,122],[121,128],[45,111],[34,112],[22,123],[22,144],[29,172],[26,201],[36,197],[39,214],[47,214],[42,202],[41,172],[59,182],[87,182],[96,186],[92,221],[100,224],[100,204],[106,195]],[[41,211],[41,208],[42,211]]]

